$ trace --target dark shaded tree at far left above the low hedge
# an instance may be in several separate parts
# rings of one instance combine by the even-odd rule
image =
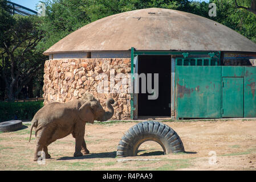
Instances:
[[[1,0],[0,3],[4,5],[0,10],[0,71],[8,100],[14,101],[23,86],[43,67],[45,57],[36,46],[44,31],[38,29],[42,22],[38,16],[11,16],[6,2]],[[5,22],[9,23],[5,25]]]

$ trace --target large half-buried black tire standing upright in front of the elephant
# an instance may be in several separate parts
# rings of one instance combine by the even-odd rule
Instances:
[[[145,121],[124,134],[117,146],[116,156],[136,156],[140,145],[148,140],[159,143],[164,154],[184,152],[183,143],[172,128],[161,122]]]

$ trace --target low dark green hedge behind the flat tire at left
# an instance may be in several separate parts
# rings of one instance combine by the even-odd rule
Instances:
[[[0,102],[0,122],[12,119],[32,119],[42,107],[43,101]]]

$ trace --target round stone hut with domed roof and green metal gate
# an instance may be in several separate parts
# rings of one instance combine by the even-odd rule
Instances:
[[[103,106],[106,98],[116,101],[112,119],[256,117],[256,44],[202,16],[158,8],[115,14],[44,55],[45,105],[90,92]],[[143,79],[158,80],[158,89],[143,92]]]

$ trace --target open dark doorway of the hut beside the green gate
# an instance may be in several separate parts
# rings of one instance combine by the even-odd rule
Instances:
[[[159,73],[159,94],[156,100],[148,100],[146,93],[138,94],[138,115],[139,116],[170,116],[170,82],[171,82],[171,57],[170,56],[139,56],[138,73],[152,73],[152,89],[154,86],[154,73]],[[147,84],[146,84],[147,85]],[[148,86],[148,85],[147,85]]]

